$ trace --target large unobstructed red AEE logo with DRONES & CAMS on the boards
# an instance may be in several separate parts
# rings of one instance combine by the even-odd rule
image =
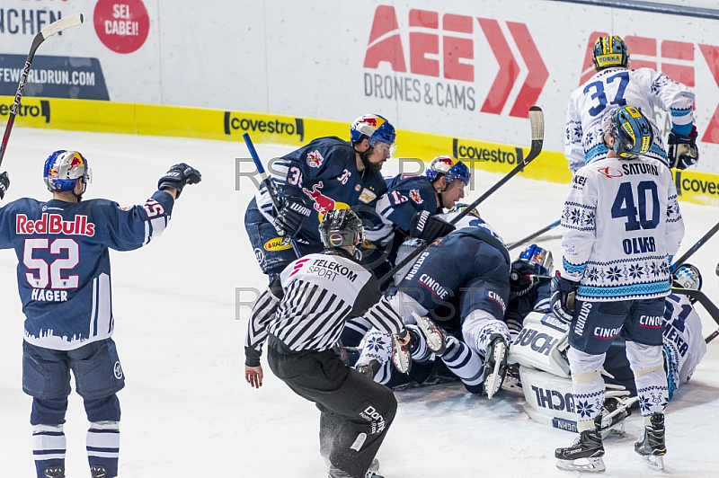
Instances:
[[[386,63],[395,73],[474,84],[475,68],[480,66],[475,60],[476,21],[484,33],[483,40],[489,43],[499,64],[498,73],[480,111],[501,114],[513,85],[519,79],[520,63],[512,53],[511,41],[519,50],[521,62],[528,72],[509,114],[518,118],[528,117],[528,109],[537,102],[549,72],[525,23],[506,22],[507,30],[510,31],[510,38],[506,38],[497,20],[454,13],[444,13],[440,17],[438,12],[419,9],[411,9],[408,17],[409,44],[405,46],[395,7],[377,6],[365,54],[365,68],[377,70]],[[431,84],[411,76],[365,74],[366,96],[474,111],[474,94],[475,89],[464,84]]]

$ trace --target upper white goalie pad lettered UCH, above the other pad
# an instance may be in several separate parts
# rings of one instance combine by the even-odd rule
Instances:
[[[568,336],[567,323],[552,314],[532,312],[525,317],[524,327],[511,343],[509,362],[568,378],[569,362],[564,356]]]

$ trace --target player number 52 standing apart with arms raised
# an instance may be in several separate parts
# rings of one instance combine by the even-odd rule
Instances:
[[[0,182],[7,177],[3,174]],[[26,317],[22,391],[32,396],[32,453],[39,478],[65,477],[63,424],[70,370],[90,421],[91,474],[117,476],[117,392],[125,386],[125,376],[111,338],[108,249],[132,251],[161,235],[182,188],[201,180],[196,169],[175,164],[144,205],[120,208],[107,199],[81,200],[90,177],[83,155],[56,151],[43,170],[52,199],[17,199],[0,208],[0,249],[14,249],[18,257]]]

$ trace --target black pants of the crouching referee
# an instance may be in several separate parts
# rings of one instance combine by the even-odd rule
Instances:
[[[364,478],[395,419],[395,394],[344,365],[333,350],[282,353],[277,339],[269,342],[272,372],[322,412],[323,456],[352,477]]]

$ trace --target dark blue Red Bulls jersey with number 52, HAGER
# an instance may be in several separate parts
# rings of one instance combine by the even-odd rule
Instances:
[[[111,336],[110,253],[161,235],[174,199],[158,190],[143,206],[107,199],[18,199],[0,208],[0,249],[17,254],[25,341],[74,350]]]

